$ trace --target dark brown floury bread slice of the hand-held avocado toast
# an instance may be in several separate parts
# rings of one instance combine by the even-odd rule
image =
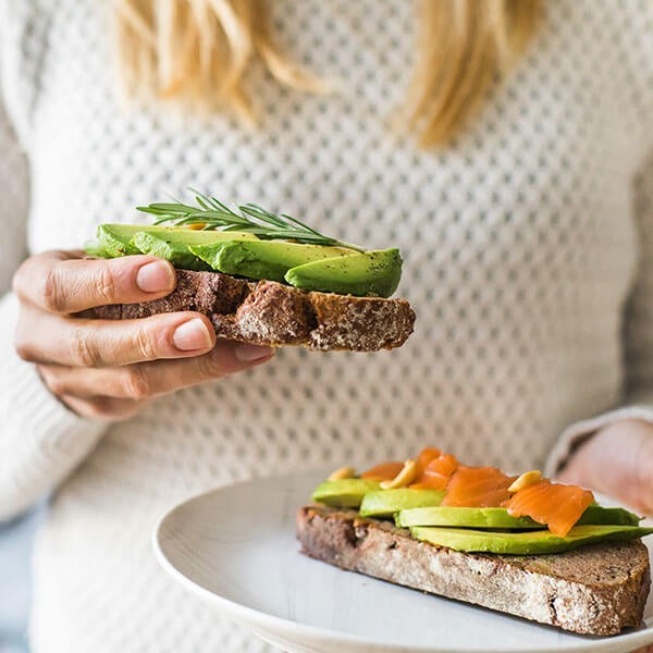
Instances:
[[[162,299],[101,306],[90,313],[125,320],[178,310],[209,317],[219,337],[322,352],[401,347],[415,324],[415,311],[404,299],[307,292],[273,281],[190,270],[177,270],[176,289]]]

